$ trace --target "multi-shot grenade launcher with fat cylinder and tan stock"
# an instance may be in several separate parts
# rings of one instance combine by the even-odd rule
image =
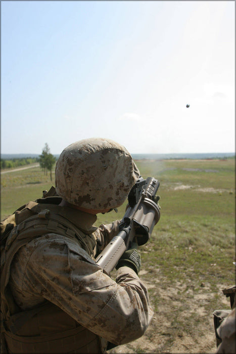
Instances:
[[[153,177],[144,180],[141,176],[131,188],[128,195],[128,205],[119,233],[95,259],[106,274],[115,268],[122,254],[135,241],[139,246],[148,242],[154,226],[160,219],[159,196],[156,196],[159,181]]]

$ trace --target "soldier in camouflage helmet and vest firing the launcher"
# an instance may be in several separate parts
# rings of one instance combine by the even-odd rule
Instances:
[[[120,206],[139,177],[129,152],[108,139],[64,149],[57,196],[20,207],[2,223],[1,307],[6,352],[104,352],[144,334],[153,316],[140,258],[126,251],[113,281],[95,257],[120,220],[93,226]],[[52,191],[52,190],[51,190]],[[140,257],[140,256],[139,256]]]

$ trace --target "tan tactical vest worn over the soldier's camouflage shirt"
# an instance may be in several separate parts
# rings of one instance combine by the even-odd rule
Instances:
[[[41,305],[22,311],[10,291],[10,268],[15,254],[43,234],[56,233],[73,239],[92,255],[95,238],[85,235],[60,214],[61,207],[57,205],[60,201],[60,197],[50,197],[29,202],[2,224],[2,352],[101,353],[106,348],[106,340],[81,326],[53,303],[45,300]]]

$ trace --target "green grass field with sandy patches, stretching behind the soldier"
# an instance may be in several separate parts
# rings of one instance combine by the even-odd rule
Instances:
[[[161,219],[140,247],[155,315],[142,338],[110,352],[214,352],[212,313],[230,308],[221,290],[235,282],[234,159],[136,163],[161,183]],[[2,219],[51,187],[39,167],[3,174],[1,183]],[[96,225],[124,210],[99,214]]]

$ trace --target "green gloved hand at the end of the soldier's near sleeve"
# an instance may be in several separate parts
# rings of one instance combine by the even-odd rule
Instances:
[[[141,267],[141,256],[137,251],[137,243],[133,242],[131,247],[122,254],[116,265],[116,270],[120,267],[129,267],[138,274]]]

